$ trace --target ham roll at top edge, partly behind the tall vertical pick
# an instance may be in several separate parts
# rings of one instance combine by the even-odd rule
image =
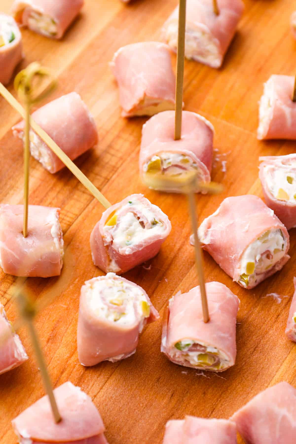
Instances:
[[[213,10],[213,0],[187,0],[185,57],[213,68],[222,65],[225,53],[244,12],[242,0],[218,0],[219,15]],[[177,7],[163,28],[166,43],[177,52]]]

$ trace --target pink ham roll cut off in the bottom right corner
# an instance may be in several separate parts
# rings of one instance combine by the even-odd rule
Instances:
[[[259,393],[230,419],[247,444],[295,444],[296,389],[280,382]]]

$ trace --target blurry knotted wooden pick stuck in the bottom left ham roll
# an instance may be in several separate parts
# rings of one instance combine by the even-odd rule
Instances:
[[[55,400],[55,395],[53,392],[53,387],[51,384],[51,379],[49,377],[47,366],[44,360],[43,351],[39,342],[38,335],[36,333],[36,329],[33,324],[33,319],[36,314],[36,310],[34,305],[31,303],[31,301],[28,299],[26,294],[24,293],[23,289],[18,289],[16,291],[16,299],[18,301],[19,309],[20,309],[20,316],[24,320],[24,322],[27,324],[33,348],[35,350],[37,362],[39,365],[39,369],[42,375],[43,384],[45,387],[45,390],[47,392],[47,396],[49,399],[49,402],[51,404],[51,410],[54,417],[54,420],[56,423],[59,423],[62,420],[62,416],[59,413],[59,409]]]

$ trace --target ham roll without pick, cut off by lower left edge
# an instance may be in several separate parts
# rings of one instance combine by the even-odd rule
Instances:
[[[0,303],[0,375],[18,367],[27,359],[24,346]]]

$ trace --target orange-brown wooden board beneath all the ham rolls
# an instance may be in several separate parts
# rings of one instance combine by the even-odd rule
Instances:
[[[141,285],[162,315],[166,301],[178,290],[198,284],[194,249],[189,244],[190,220],[185,196],[164,194],[143,186],[138,174],[138,154],[144,118],[120,117],[118,90],[108,62],[122,45],[158,40],[160,28],[176,0],[86,0],[83,13],[62,41],[52,41],[23,30],[25,59],[49,67],[59,79],[51,95],[77,91],[87,103],[99,130],[99,144],[76,164],[106,198],[114,203],[131,193],[144,193],[169,216],[170,237],[158,256],[125,274]],[[9,11],[11,0],[1,0]],[[227,196],[257,194],[259,155],[295,152],[295,142],[259,142],[256,139],[258,100],[262,84],[271,74],[295,74],[296,41],[289,29],[291,0],[245,0],[239,31],[219,70],[185,62],[185,109],[209,119],[216,130],[212,180],[222,182],[220,195],[197,195],[199,220],[212,214]],[[176,57],[173,56],[173,63]],[[12,84],[9,90],[15,95]],[[49,100],[49,99],[48,99]],[[0,202],[22,203],[23,148],[10,128],[19,116],[0,98]],[[226,172],[221,161],[227,161]],[[70,173],[51,175],[30,161],[32,204],[61,208],[65,257],[59,278],[31,278],[28,288],[36,300],[51,290],[56,298],[36,318],[48,369],[55,387],[70,380],[94,400],[107,428],[110,444],[161,444],[166,421],[185,414],[228,418],[261,390],[279,381],[296,386],[296,346],[284,336],[293,293],[296,267],[296,233],[291,230],[291,259],[284,269],[245,290],[233,283],[205,254],[206,281],[220,281],[241,300],[237,318],[237,361],[216,375],[174,365],[160,353],[161,321],[144,329],[137,352],[119,363],[84,368],[78,362],[76,328],[79,291],[83,282],[101,274],[93,265],[89,236],[103,206]],[[147,264],[149,265],[149,264]],[[17,317],[10,287],[15,278],[0,274],[0,301],[10,320]],[[268,293],[283,296],[278,304]],[[15,444],[10,421],[44,395],[25,327],[20,337],[29,360],[0,376],[0,442]],[[242,440],[238,441],[240,444]]]

